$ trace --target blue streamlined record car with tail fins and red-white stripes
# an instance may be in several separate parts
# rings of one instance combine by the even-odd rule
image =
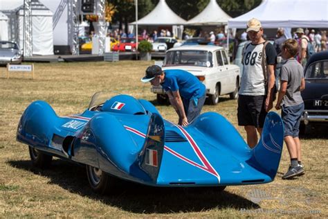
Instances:
[[[53,156],[86,166],[95,192],[111,191],[126,179],[149,186],[221,186],[272,182],[279,166],[283,125],[270,112],[262,137],[250,149],[223,116],[201,114],[187,127],[161,117],[147,100],[104,92],[82,114],[57,116],[37,100],[21,116],[17,140],[26,143],[33,165]]]

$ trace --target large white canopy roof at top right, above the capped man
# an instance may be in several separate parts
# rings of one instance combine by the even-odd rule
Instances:
[[[327,28],[327,0],[264,0],[244,15],[228,20],[229,28],[246,28],[251,18],[264,28]]]

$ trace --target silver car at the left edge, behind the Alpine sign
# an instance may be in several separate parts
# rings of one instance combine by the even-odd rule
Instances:
[[[16,42],[0,41],[0,64],[21,64],[23,53]]]

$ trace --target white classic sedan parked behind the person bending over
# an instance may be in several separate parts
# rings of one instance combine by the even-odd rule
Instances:
[[[199,78],[206,86],[209,103],[217,105],[219,96],[229,94],[231,99],[238,96],[239,67],[230,64],[226,50],[221,46],[192,45],[172,48],[167,51],[163,71],[183,69]],[[152,86],[158,103],[167,102],[161,86]]]

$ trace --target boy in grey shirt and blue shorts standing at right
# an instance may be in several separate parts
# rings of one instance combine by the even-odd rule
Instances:
[[[286,60],[280,71],[280,91],[275,109],[282,109],[284,123],[284,141],[286,143],[291,166],[282,179],[291,179],[304,174],[301,164],[301,146],[298,138],[300,119],[304,111],[304,102],[300,91],[305,89],[303,67],[295,55],[298,53],[298,42],[286,40],[282,44],[282,58]]]

